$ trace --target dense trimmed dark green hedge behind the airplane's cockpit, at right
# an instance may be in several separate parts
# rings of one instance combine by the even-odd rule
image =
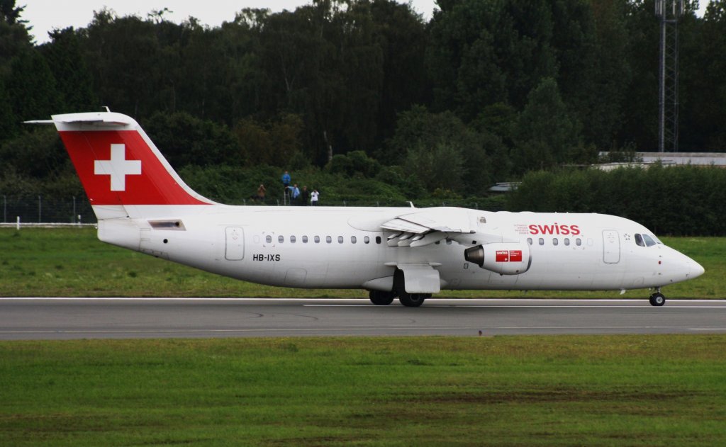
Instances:
[[[726,234],[726,170],[648,169],[531,172],[510,197],[516,210],[615,214],[656,234]]]

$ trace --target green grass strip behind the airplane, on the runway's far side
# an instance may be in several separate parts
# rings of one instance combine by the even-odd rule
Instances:
[[[665,237],[706,274],[668,298],[726,298],[726,238]],[[645,290],[626,298],[647,298]],[[99,242],[91,228],[0,229],[0,296],[367,298],[362,290],[298,290],[224,278]],[[618,292],[443,291],[441,298],[620,298]]]

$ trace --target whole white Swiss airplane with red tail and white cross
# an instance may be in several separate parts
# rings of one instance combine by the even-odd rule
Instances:
[[[248,282],[364,289],[417,307],[441,290],[625,290],[703,267],[627,218],[466,208],[224,205],[194,192],[136,120],[52,115],[98,219],[98,238]]]

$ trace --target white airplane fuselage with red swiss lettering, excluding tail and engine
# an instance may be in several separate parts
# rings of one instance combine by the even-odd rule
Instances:
[[[635,234],[650,234],[648,229],[616,216],[436,208],[481,222],[487,242],[529,245],[526,271],[499,274],[465,260],[464,250],[481,244],[478,234],[470,242],[447,237],[420,247],[389,246],[395,232],[381,224],[417,208],[137,207],[144,208],[144,218],[99,220],[99,239],[275,286],[391,290],[401,265],[433,267],[441,289],[449,290],[624,290],[703,273],[698,263],[660,242],[637,245]]]

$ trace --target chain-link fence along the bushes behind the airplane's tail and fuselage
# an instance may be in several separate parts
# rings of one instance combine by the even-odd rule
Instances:
[[[95,224],[96,216],[91,209],[91,204],[85,196],[83,197],[12,197],[2,195],[2,223],[16,224]],[[285,200],[268,199],[265,202],[255,200],[243,200],[242,203],[234,205],[267,205],[267,206],[305,206],[309,203],[292,203]],[[499,197],[485,197],[477,201],[472,200],[437,200],[425,199],[414,200],[416,208],[428,208],[439,206],[454,206],[472,208],[475,210],[501,211],[505,209],[505,202]],[[409,203],[393,202],[388,200],[320,200],[319,206],[357,206],[357,207],[406,207]]]

